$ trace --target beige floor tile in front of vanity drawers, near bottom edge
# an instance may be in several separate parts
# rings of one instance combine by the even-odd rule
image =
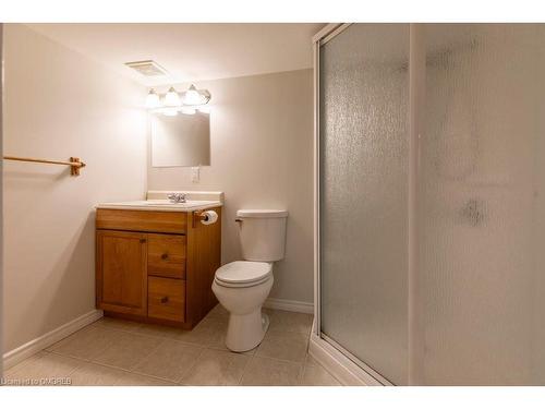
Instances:
[[[134,369],[134,372],[180,382],[197,362],[202,351],[201,347],[166,339]]]

